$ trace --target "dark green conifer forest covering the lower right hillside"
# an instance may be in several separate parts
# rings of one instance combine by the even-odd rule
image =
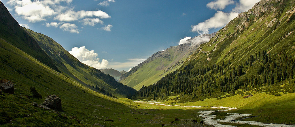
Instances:
[[[168,96],[181,95],[183,98],[180,101],[197,101],[220,97],[223,93],[235,95],[251,89],[279,96],[281,94],[277,92],[282,92],[281,87],[274,84],[282,83],[286,83],[283,86],[286,89],[284,93],[295,92],[293,56],[284,53],[272,56],[266,51],[259,51],[238,66],[230,65],[230,60],[202,67],[187,64],[182,69],[167,74],[157,83],[143,86],[135,97],[165,99]]]

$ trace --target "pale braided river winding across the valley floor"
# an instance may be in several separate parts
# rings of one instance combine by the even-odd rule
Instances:
[[[163,105],[163,106],[180,106],[180,105],[165,105],[165,104],[159,104],[160,102],[154,102],[154,101],[148,101],[148,102],[143,102],[143,101],[134,101],[135,103],[138,104],[153,104],[153,105]],[[194,107],[194,108],[201,108],[202,106],[182,106],[182,107]],[[228,111],[232,109],[237,109],[237,108],[228,108],[228,107],[211,107],[211,108],[222,108],[225,110],[218,110],[218,111]],[[263,126],[263,127],[295,127],[294,125],[285,125],[285,124],[276,124],[276,123],[261,123],[257,121],[235,121],[236,118],[243,117],[243,116],[249,116],[251,114],[239,114],[239,113],[230,113],[232,115],[226,116],[224,120],[214,120],[215,115],[209,115],[213,113],[214,111],[200,111],[199,116],[201,116],[201,120],[204,121],[205,123],[209,125],[213,125],[216,127],[232,127],[231,125],[223,125],[219,124],[218,122],[224,122],[224,123],[239,123],[239,124],[250,124],[250,125],[257,125],[257,126]]]

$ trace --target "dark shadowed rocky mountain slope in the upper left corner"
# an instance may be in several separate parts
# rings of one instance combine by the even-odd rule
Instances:
[[[38,43],[19,26],[4,4],[0,1],[0,38],[28,53],[40,62],[58,71],[53,60],[40,48]]]

